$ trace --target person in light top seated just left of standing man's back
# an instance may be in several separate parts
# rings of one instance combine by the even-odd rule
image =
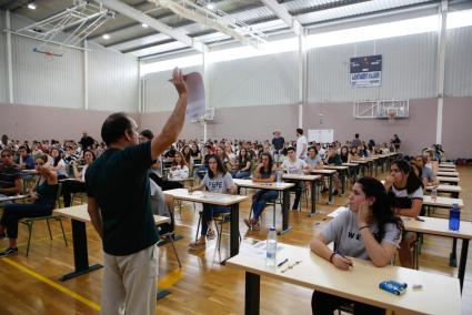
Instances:
[[[64,201],[64,206],[71,206],[72,194],[73,193],[84,193],[86,192],[86,172],[90,164],[96,161],[96,154],[89,149],[83,151],[83,160],[86,165],[83,165],[82,171],[77,169],[76,162],[72,163],[73,179],[68,179],[62,181],[62,199]]]

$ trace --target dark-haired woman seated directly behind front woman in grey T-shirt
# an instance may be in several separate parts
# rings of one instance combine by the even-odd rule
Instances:
[[[423,206],[423,189],[420,179],[411,171],[405,160],[396,160],[390,166],[390,175],[385,179],[385,189],[394,200],[394,213],[416,217]],[[411,246],[416,234],[408,232],[400,244],[399,256],[403,267],[413,267]]]

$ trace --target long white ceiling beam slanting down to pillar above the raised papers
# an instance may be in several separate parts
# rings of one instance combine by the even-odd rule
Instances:
[[[97,1],[97,0],[96,0]],[[133,20],[137,20],[140,23],[145,23],[150,28],[162,32],[171,38],[177,39],[178,41],[194,48],[198,51],[203,51],[204,45],[203,43],[194,41],[192,38],[188,37],[187,34],[175,31],[171,27],[155,20],[154,18],[149,17],[148,14],[144,14],[143,12],[134,9],[133,7],[130,7],[121,1],[118,0],[100,0],[103,6],[108,7],[109,9],[117,11],[123,16],[127,16],[128,18],[131,18]]]

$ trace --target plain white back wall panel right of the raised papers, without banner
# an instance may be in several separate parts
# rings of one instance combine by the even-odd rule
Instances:
[[[210,68],[210,104],[217,109],[298,102],[298,53],[218,62]]]

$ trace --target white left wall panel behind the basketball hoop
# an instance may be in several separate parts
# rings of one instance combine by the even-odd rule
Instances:
[[[12,14],[13,29],[28,24]],[[40,42],[11,37],[14,102],[19,104],[74,108],[83,106],[82,52],[67,49],[62,57],[47,58],[33,52]]]

